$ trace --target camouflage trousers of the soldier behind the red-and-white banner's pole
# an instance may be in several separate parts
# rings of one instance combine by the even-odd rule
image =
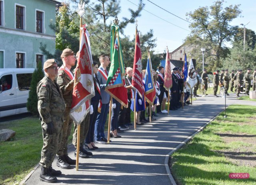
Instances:
[[[87,136],[89,126],[90,126],[90,112],[88,114],[86,114],[84,120],[80,124],[80,149],[84,145],[84,140]],[[74,124],[74,134],[73,134],[72,143],[75,146],[75,148],[77,146],[77,128],[78,128],[78,126],[76,124]]]

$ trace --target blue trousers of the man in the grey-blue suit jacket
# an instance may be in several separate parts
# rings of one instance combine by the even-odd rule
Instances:
[[[95,141],[101,141],[102,138],[105,138],[104,128],[107,120],[108,108],[109,108],[109,103],[102,104],[101,113],[98,112],[98,116],[95,122],[95,131],[94,131]]]

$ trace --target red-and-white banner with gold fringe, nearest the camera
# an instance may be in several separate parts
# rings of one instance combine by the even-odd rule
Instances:
[[[76,124],[80,124],[90,111],[90,98],[95,96],[92,70],[92,52],[89,33],[82,28],[78,62],[75,69],[74,89],[70,116]]]

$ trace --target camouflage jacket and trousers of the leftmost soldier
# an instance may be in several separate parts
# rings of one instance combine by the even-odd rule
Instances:
[[[38,112],[40,114],[44,145],[41,152],[40,165],[51,167],[52,161],[60,145],[62,137],[62,115],[65,110],[65,102],[56,81],[44,77],[37,85]],[[46,124],[52,122],[54,133],[46,132]]]

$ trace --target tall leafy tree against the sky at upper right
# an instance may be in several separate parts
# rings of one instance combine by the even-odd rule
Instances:
[[[192,31],[185,43],[195,45],[194,58],[201,58],[200,48],[206,47],[204,56],[208,70],[222,67],[221,59],[225,59],[229,52],[225,43],[232,40],[237,30],[237,26],[231,26],[230,22],[241,13],[240,5],[223,8],[223,2],[224,0],[217,0],[210,7],[200,7],[186,14]]]

